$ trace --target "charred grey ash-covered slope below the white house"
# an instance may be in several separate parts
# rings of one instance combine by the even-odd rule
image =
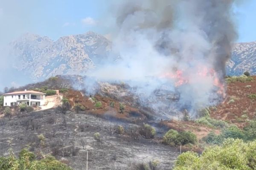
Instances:
[[[157,126],[157,123],[154,123]],[[115,133],[122,125],[125,134]],[[18,154],[28,144],[38,158],[52,154],[74,170],[137,170],[139,164],[158,160],[157,170],[171,170],[178,151],[157,139],[144,139],[139,125],[115,122],[87,113],[58,109],[21,114],[0,119],[0,155],[8,154],[9,142]],[[156,128],[157,136],[167,131]],[[100,134],[100,141],[94,134]],[[43,134],[45,139],[38,137]]]

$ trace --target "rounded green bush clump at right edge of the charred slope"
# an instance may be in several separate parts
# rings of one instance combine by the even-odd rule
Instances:
[[[166,132],[165,136],[163,136],[163,142],[171,146],[185,145],[189,143],[195,144],[197,142],[197,137],[190,131],[179,133],[177,130],[171,129]]]

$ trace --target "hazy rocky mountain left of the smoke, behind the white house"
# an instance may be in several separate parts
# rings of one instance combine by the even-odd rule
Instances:
[[[34,80],[57,74],[84,74],[108,56],[109,42],[89,31],[52,41],[48,37],[25,34],[11,44],[14,67]]]

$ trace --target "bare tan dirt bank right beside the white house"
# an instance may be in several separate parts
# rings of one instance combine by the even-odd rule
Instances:
[[[46,96],[45,97],[45,104],[41,106],[41,110],[47,110],[50,108],[55,108],[59,105],[61,105],[61,95],[54,95],[54,96]]]

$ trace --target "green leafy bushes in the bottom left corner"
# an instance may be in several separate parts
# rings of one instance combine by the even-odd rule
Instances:
[[[13,150],[9,149],[9,156],[0,157],[0,170],[72,170],[53,156],[41,160],[35,158],[35,154],[29,152],[28,148],[22,149],[17,158]]]

